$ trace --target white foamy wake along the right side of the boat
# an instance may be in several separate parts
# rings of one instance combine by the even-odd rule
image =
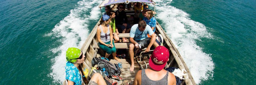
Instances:
[[[205,25],[189,18],[189,14],[170,5],[169,0],[155,0],[156,19],[161,20],[161,26],[170,37],[185,63],[196,84],[213,76],[214,63],[211,54],[206,54],[197,45],[200,38],[212,38]]]

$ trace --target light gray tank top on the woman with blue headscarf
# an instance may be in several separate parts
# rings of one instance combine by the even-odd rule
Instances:
[[[109,25],[108,25],[108,32],[107,33],[104,33],[103,30],[102,30],[102,27],[100,25],[100,29],[101,29],[101,32],[100,32],[100,40],[104,43],[106,42],[109,42],[110,41],[110,31],[109,31]],[[107,36],[106,36],[107,34]]]

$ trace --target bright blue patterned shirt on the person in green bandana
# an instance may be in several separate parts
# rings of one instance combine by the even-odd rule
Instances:
[[[82,79],[79,70],[77,69],[77,67],[75,67],[75,65],[73,65],[73,63],[68,61],[66,63],[65,69],[66,80],[73,81],[74,85],[82,85]]]

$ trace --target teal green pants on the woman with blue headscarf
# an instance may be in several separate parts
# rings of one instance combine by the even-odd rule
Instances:
[[[112,42],[112,45],[114,45],[113,48],[110,48],[110,47],[108,47],[108,46],[106,46],[106,45],[104,45],[104,44],[101,44],[100,42],[99,42],[98,44],[99,44],[100,49],[102,49],[102,50],[104,50],[105,52],[107,52],[107,54],[111,54],[111,53],[116,52],[114,40],[113,40],[113,42]],[[105,42],[105,44],[110,44],[110,41]]]

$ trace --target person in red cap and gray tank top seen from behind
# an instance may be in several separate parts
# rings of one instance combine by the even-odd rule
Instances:
[[[176,85],[175,76],[164,70],[167,61],[169,61],[168,49],[164,46],[156,47],[149,58],[150,69],[139,70],[133,85]]]

